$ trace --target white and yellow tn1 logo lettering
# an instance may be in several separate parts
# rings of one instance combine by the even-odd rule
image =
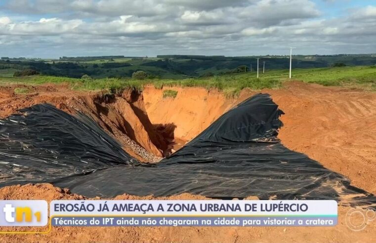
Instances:
[[[33,221],[33,211],[30,207],[13,207],[12,204],[5,204],[3,211],[5,213],[5,220],[9,223],[23,222],[24,218],[25,222]],[[37,218],[37,222],[41,222],[40,211],[35,212],[34,216]]]

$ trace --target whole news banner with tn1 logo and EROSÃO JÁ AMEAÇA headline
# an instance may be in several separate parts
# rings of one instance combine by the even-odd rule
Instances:
[[[335,201],[0,201],[0,226],[335,226]],[[48,220],[49,217],[49,220]]]

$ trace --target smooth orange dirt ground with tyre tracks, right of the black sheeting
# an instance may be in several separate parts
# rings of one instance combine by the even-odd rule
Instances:
[[[376,193],[375,93],[296,82],[270,93],[286,113],[284,145]]]

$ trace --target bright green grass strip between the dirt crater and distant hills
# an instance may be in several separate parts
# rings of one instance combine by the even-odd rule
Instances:
[[[293,69],[292,79],[322,85],[346,86],[362,88],[369,91],[376,91],[376,67],[337,67],[337,68],[315,68],[315,69]],[[209,78],[195,79],[93,79],[82,80],[52,76],[30,76],[30,77],[8,77],[0,78],[0,85],[5,84],[30,84],[42,83],[69,83],[72,89],[77,90],[101,90],[107,89],[110,92],[119,92],[125,88],[142,89],[146,84],[153,84],[157,88],[163,86],[199,86],[207,89],[217,88],[226,95],[237,95],[242,89],[250,88],[260,90],[263,88],[279,88],[283,82],[289,79],[288,70],[267,71],[260,73],[259,78],[256,72],[214,76]]]

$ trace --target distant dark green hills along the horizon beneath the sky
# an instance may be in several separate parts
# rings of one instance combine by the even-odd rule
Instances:
[[[0,60],[0,77],[9,77],[16,71],[33,69],[42,75],[81,78],[125,78],[136,71],[145,71],[150,78],[187,79],[237,74],[262,69],[287,70],[289,56],[197,56],[161,55],[157,58],[100,56],[100,57],[62,57],[60,59],[10,58]],[[333,66],[372,66],[376,65],[376,55],[310,55],[293,56],[293,68],[329,68]]]

